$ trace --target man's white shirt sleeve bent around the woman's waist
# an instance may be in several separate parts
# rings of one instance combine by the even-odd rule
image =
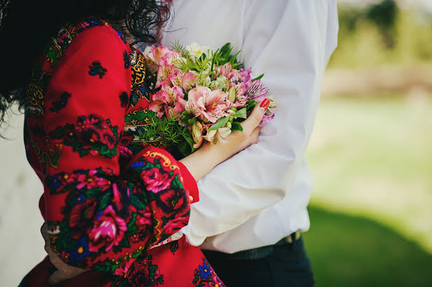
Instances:
[[[336,48],[336,1],[247,1],[241,58],[278,101],[257,145],[198,182],[200,201],[182,233],[192,245],[240,226],[292,190],[308,145],[322,73]],[[227,39],[229,40],[229,39]]]

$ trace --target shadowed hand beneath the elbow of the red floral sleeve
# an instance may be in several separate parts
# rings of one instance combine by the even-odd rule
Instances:
[[[66,263],[63,262],[62,259],[59,258],[59,256],[57,256],[57,254],[54,251],[51,250],[50,239],[48,237],[48,230],[47,230],[46,223],[43,223],[43,225],[41,226],[41,233],[43,239],[45,240],[45,251],[48,253],[48,256],[50,256],[50,261],[52,265],[54,265],[57,268],[57,271],[52,273],[50,278],[48,279],[50,284],[52,285],[59,284],[62,281],[71,279],[87,271],[78,267],[67,265]]]

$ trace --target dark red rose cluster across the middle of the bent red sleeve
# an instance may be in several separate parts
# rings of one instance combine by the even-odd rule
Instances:
[[[51,138],[63,140],[63,145],[73,147],[80,156],[104,156],[108,159],[117,155],[119,128],[112,126],[109,119],[99,115],[80,116],[75,125],[57,126],[49,133]]]

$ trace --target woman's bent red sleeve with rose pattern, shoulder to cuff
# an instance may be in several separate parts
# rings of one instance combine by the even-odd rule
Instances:
[[[185,226],[190,207],[178,162],[163,149],[138,154],[129,170],[139,180],[122,176],[128,52],[110,27],[78,34],[50,79],[43,120],[45,143],[56,151],[47,162],[59,155],[44,179],[51,248],[69,265],[120,276]]]

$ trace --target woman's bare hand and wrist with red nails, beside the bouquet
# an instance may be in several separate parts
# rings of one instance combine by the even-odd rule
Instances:
[[[255,106],[249,117],[241,123],[243,131],[233,131],[226,137],[226,142],[219,141],[213,145],[206,142],[196,152],[186,156],[185,159],[181,159],[180,162],[186,165],[198,182],[216,165],[258,142],[259,130],[261,129],[258,124],[264,117],[269,104],[270,101],[264,99],[260,105]]]

